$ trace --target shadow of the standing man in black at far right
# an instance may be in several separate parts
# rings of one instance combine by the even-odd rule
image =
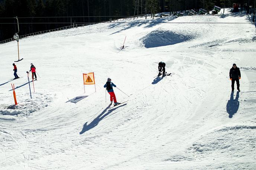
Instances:
[[[227,112],[229,114],[229,118],[232,118],[233,115],[237,112],[239,108],[239,92],[236,92],[236,98],[234,99],[234,92],[230,94],[230,100],[227,103]]]

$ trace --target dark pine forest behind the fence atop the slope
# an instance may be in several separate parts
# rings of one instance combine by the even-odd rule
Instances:
[[[0,0],[0,41],[73,24],[109,21],[128,16],[184,10],[212,10],[214,5],[253,5],[253,0]],[[136,4],[136,10],[135,10]],[[248,5],[247,5],[248,6]]]

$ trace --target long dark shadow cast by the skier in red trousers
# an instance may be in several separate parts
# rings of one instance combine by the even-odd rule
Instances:
[[[113,112],[115,109],[122,107],[124,105],[127,104],[123,104],[120,106],[116,106],[112,109],[109,109],[111,105],[109,105],[108,107],[105,108],[105,110],[103,110],[103,112],[101,112],[101,114],[99,114],[92,122],[90,122],[89,125],[87,125],[87,122],[84,124],[83,129],[81,130],[81,132],[79,133],[80,135],[85,133],[86,131],[94,128],[95,126],[97,126],[99,124],[99,122],[104,119],[107,115],[109,115],[111,112]],[[106,112],[107,111],[107,112]],[[106,113],[105,113],[106,112]],[[104,115],[103,115],[104,114]]]

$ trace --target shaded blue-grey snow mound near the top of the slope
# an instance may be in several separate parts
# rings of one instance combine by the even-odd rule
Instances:
[[[193,39],[192,35],[182,35],[168,30],[155,30],[141,38],[145,48],[174,45]]]

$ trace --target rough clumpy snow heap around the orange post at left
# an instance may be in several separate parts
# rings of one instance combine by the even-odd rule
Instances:
[[[30,94],[27,94],[30,95]],[[17,115],[19,117],[29,116],[32,112],[39,111],[42,108],[48,106],[52,102],[52,95],[35,93],[32,96],[32,99],[25,99],[23,102],[18,102],[18,104],[12,105],[8,108],[0,107],[0,114],[2,115]]]

